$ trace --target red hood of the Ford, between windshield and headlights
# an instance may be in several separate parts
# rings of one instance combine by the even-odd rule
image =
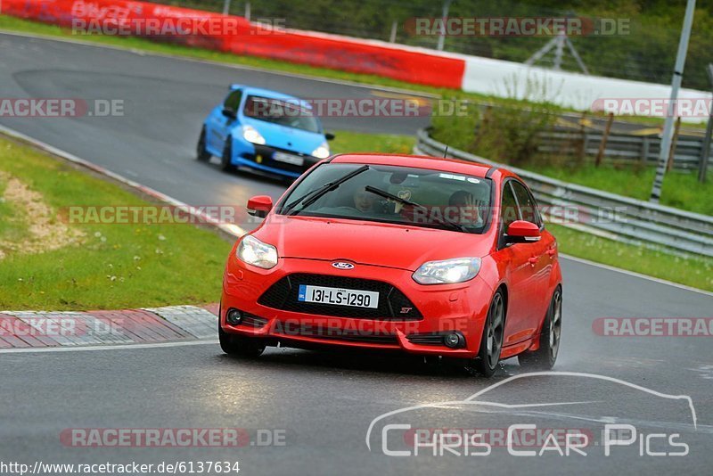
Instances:
[[[281,258],[343,259],[415,271],[426,261],[481,258],[488,235],[335,218],[273,215],[256,232]]]

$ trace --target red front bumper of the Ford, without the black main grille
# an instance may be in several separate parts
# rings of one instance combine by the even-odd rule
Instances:
[[[284,276],[305,274],[388,283],[401,291],[421,316],[360,317],[351,312],[349,316],[327,316],[313,314],[314,310],[296,312],[258,302]],[[263,270],[245,265],[231,254],[225,268],[220,325],[225,332],[280,341],[288,347],[324,344],[475,357],[493,293],[488,284],[476,277],[467,283],[426,286],[415,283],[411,275],[411,271],[368,265],[339,270],[332,267],[331,261],[289,258],[280,259],[273,269]],[[231,309],[241,311],[247,318],[240,324],[228,324],[226,315]],[[440,340],[440,336],[453,332],[458,332],[464,341],[457,349]]]

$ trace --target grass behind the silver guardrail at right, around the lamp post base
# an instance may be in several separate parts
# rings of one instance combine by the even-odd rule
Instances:
[[[582,167],[526,166],[530,170],[552,176],[564,182],[617,193],[627,197],[648,201],[652,193],[654,168],[615,167],[594,164]],[[661,205],[685,209],[704,215],[713,215],[713,181],[698,182],[696,172],[684,173],[672,170],[666,174],[661,193]]]

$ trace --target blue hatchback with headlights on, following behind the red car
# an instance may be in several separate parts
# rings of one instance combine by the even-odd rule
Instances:
[[[197,159],[220,157],[221,168],[248,167],[296,178],[330,155],[322,122],[298,98],[233,85],[203,122]]]

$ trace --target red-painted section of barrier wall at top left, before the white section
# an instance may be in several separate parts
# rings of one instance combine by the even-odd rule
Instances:
[[[125,0],[3,0],[4,14],[72,27],[84,21],[225,19],[224,15]],[[224,52],[299,62],[312,66],[394,78],[415,84],[459,89],[465,62],[447,53],[397,48],[368,40],[294,30],[275,31],[241,17],[230,17],[237,34],[172,35],[161,40]]]

